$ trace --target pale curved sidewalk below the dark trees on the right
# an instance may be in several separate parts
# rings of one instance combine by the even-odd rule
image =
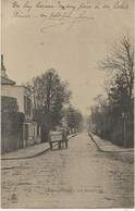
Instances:
[[[89,137],[95,142],[98,150],[102,151],[102,152],[131,152],[131,151],[134,151],[134,148],[118,147],[106,139],[101,139],[99,136],[93,134],[91,132],[89,132]]]

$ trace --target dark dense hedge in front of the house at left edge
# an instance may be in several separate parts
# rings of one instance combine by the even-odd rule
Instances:
[[[1,151],[22,147],[24,113],[19,112],[15,98],[1,97]]]

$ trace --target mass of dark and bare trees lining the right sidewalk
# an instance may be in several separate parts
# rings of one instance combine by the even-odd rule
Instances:
[[[95,98],[90,127],[116,145],[134,144],[134,48],[133,40],[122,36],[110,54],[100,61],[100,70],[109,73],[106,94]]]

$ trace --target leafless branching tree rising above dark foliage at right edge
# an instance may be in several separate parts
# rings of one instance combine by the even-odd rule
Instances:
[[[134,47],[133,41],[128,35],[119,38],[103,61],[100,61],[100,70],[106,70],[113,75],[113,77],[121,78],[123,86],[127,88],[127,98],[130,108],[133,98],[134,87]]]

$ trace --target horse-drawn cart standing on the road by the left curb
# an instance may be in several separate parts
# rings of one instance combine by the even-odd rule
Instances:
[[[58,149],[61,149],[61,147],[68,148],[68,137],[64,132],[51,132],[49,134],[49,145],[50,149],[53,149],[53,144],[58,144]]]

